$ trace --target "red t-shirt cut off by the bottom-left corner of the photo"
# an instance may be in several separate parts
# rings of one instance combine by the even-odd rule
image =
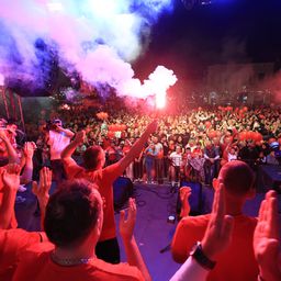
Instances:
[[[40,233],[29,233],[20,228],[0,229],[0,280],[12,280],[21,252],[41,239]]]

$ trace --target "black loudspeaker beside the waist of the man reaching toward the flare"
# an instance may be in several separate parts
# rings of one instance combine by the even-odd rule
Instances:
[[[127,200],[133,195],[134,184],[130,178],[119,177],[113,183],[114,210],[124,207]]]

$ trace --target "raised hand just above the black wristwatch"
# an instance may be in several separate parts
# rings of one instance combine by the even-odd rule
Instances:
[[[234,220],[232,216],[225,215],[224,192],[224,184],[220,183],[215,191],[211,220],[202,240],[203,252],[212,260],[232,241]]]

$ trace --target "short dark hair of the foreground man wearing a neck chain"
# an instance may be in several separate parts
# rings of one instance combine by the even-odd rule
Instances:
[[[87,180],[65,181],[49,198],[44,228],[57,247],[78,245],[97,225],[102,206],[93,189]]]

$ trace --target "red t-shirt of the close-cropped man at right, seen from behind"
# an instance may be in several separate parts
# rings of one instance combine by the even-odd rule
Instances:
[[[173,259],[184,262],[192,246],[203,239],[209,215],[188,216],[180,221],[171,244]],[[231,246],[221,252],[207,281],[257,281],[258,263],[255,259],[252,237],[257,220],[245,215],[234,217]]]

